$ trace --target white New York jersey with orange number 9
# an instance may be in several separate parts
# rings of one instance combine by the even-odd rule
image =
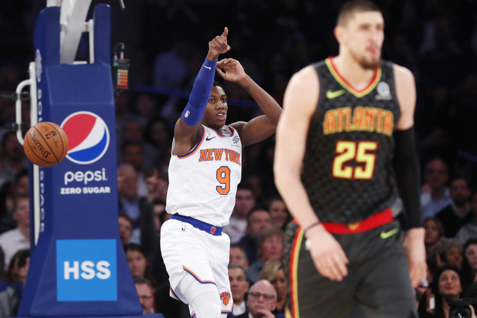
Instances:
[[[224,135],[204,125],[202,129],[200,142],[188,154],[170,158],[165,210],[222,227],[229,224],[235,206],[242,144],[230,126],[224,126]]]

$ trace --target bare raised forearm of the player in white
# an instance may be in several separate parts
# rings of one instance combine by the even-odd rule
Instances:
[[[248,75],[239,80],[239,85],[252,96],[270,122],[276,125],[282,113],[282,108],[277,101]]]

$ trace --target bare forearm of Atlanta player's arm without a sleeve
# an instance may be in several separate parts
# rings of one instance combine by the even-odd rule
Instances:
[[[274,165],[275,184],[290,213],[302,228],[318,222],[299,171],[292,171],[281,164]]]

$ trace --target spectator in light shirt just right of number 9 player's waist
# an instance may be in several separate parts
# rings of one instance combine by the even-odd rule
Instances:
[[[255,206],[255,197],[252,189],[246,184],[239,183],[235,195],[235,207],[229,224],[224,227],[224,232],[230,237],[231,243],[237,243],[244,235],[247,228],[247,216]]]

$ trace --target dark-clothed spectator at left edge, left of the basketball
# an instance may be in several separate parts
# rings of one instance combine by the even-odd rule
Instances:
[[[16,139],[15,131],[8,131],[1,139],[0,185],[6,181],[14,181],[15,175],[26,167],[23,147]]]

